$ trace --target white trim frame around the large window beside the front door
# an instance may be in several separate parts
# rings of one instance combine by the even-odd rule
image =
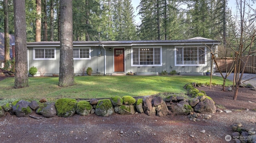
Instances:
[[[160,65],[134,65],[133,64],[133,49],[136,49],[136,48],[160,48]],[[132,47],[132,49],[131,49],[131,66],[132,67],[160,67],[160,66],[162,66],[162,46]]]

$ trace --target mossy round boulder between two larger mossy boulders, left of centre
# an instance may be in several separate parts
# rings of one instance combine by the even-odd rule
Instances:
[[[92,110],[92,105],[88,101],[79,101],[76,106],[76,113],[81,116],[88,115]]]

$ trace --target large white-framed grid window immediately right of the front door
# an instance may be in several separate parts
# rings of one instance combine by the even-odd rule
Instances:
[[[162,47],[133,47],[132,66],[162,66]]]

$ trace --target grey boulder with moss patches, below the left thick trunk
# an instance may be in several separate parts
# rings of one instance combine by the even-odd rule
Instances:
[[[16,100],[12,102],[12,108],[10,114],[15,114],[17,117],[29,116],[32,113],[32,109],[28,106],[30,102],[25,100]]]

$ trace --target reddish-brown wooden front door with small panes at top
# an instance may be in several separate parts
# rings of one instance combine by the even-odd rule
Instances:
[[[124,49],[114,49],[114,72],[124,72]]]

